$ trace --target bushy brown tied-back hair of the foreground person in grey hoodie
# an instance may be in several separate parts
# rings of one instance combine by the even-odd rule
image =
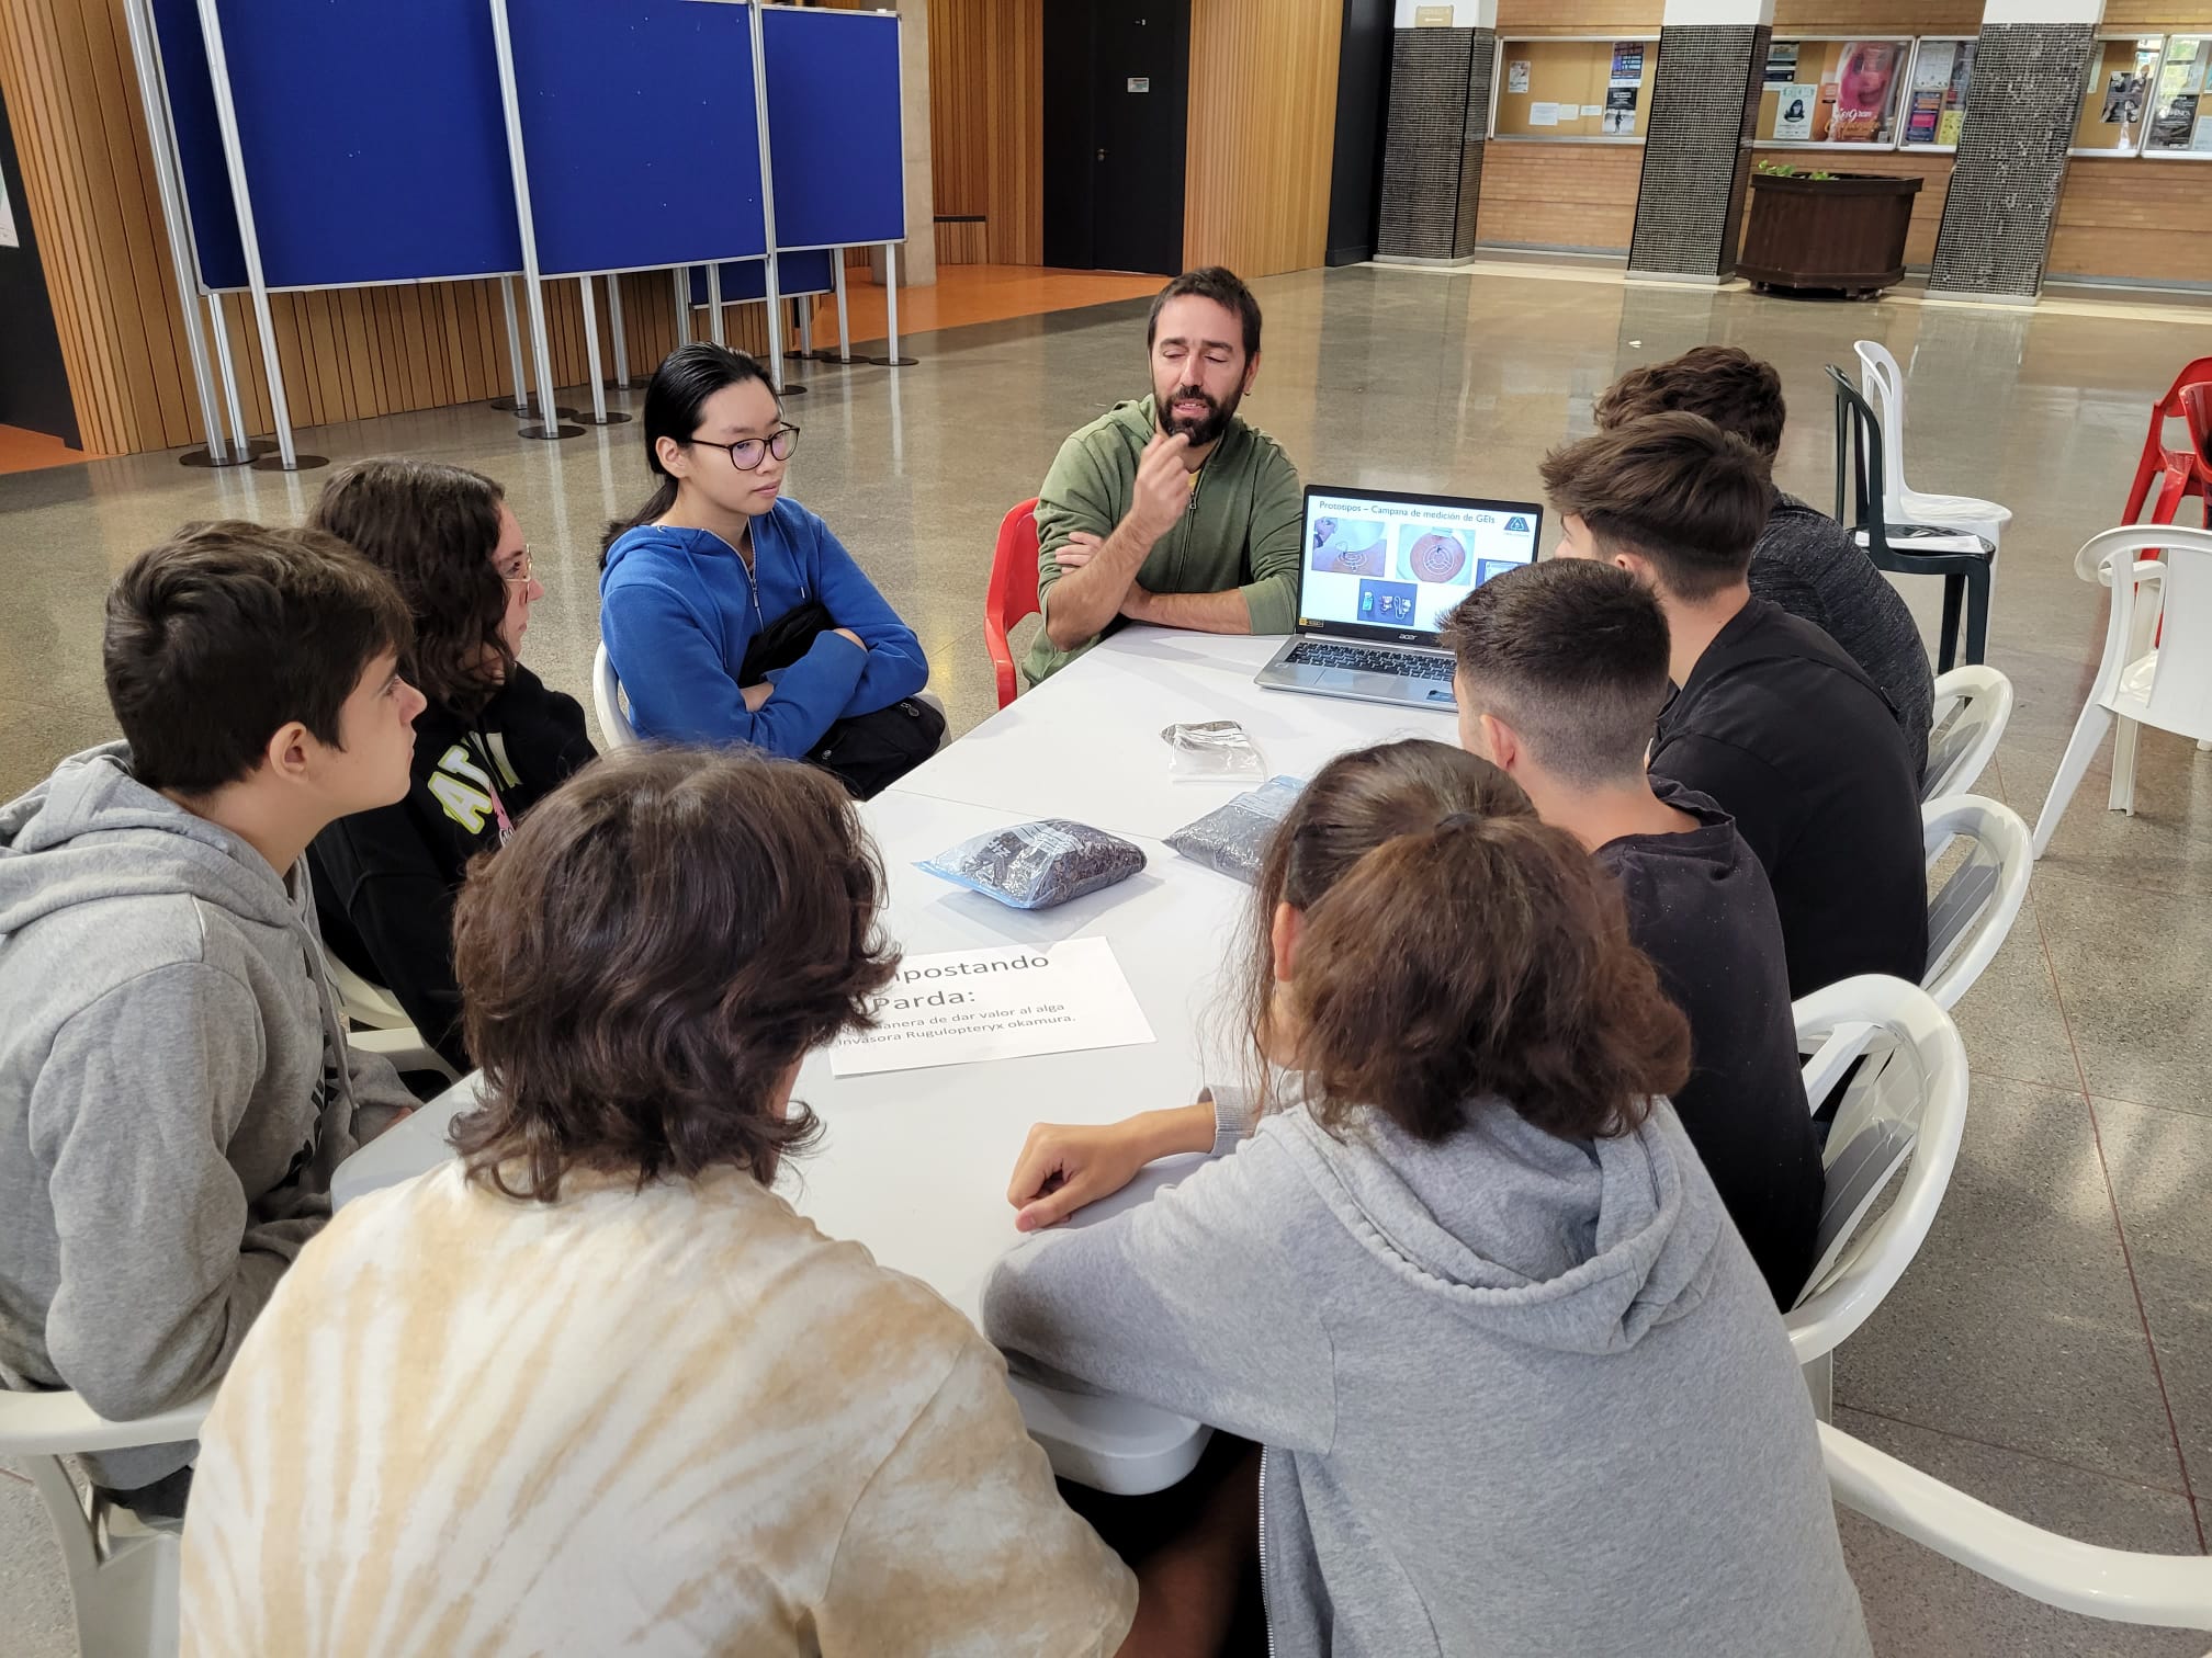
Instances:
[[[1274,982],[1279,904],[1303,911]],[[1442,743],[1340,754],[1254,895],[1248,1015],[1292,1032],[1332,1130],[1380,1112],[1442,1141],[1502,1099],[1559,1138],[1626,1134],[1690,1074],[1690,1026],[1628,942],[1619,889],[1504,772]]]

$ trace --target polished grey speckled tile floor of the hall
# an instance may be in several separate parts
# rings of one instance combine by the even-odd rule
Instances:
[[[2006,502],[1991,661],[2020,705],[1984,791],[2035,816],[2101,643],[2073,553],[2119,515],[2146,407],[2212,351],[2212,314],[2064,303],[2042,314],[1909,294],[1818,305],[1628,287],[1617,272],[1354,267],[1259,283],[1267,351],[1248,413],[1316,482],[1535,491],[1624,367],[1688,345],[1781,365],[1787,489],[1832,497],[1825,363],[1871,334],[1909,369],[1911,478]],[[914,621],[956,727],[991,710],[978,637],[1000,513],[1060,438],[1144,389],[1144,305],[920,334],[920,367],[807,365],[792,489]],[[593,555],[644,493],[637,427],[564,444],[482,407],[332,427],[303,444],[416,451],[491,471],[549,597],[531,659],[586,694]],[[100,741],[102,588],[179,520],[296,520],[316,475],[186,471],[150,455],[0,478],[0,794]],[[1929,586],[1929,584],[1920,584]],[[1933,592],[1911,590],[1931,621]],[[1973,1110],[1936,1231],[1836,1360],[1838,1421],[2000,1508],[2088,1541],[2203,1547],[2212,1492],[2212,756],[2146,734],[2135,818],[2084,783],[2020,924],[1958,1010]],[[2201,1654],[2205,1638],[2046,1612],[1845,1519],[1882,1654]],[[38,1503],[0,1477],[0,1645],[66,1654]]]

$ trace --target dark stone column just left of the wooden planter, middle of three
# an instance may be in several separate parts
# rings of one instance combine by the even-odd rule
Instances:
[[[1666,0],[1630,276],[1734,274],[1772,35],[1774,0]]]

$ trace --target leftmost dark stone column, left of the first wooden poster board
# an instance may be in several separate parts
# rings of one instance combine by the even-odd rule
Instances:
[[[1464,263],[1475,254],[1498,0],[1398,0],[1394,22],[1376,259]]]

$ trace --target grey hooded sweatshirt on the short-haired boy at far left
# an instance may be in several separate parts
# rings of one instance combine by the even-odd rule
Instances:
[[[0,807],[0,1382],[181,1404],[330,1218],[330,1172],[414,1099],[345,1043],[305,864],[276,875],[122,743]]]

